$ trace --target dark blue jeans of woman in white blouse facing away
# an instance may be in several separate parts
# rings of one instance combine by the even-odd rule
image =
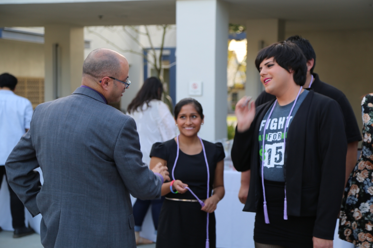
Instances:
[[[158,229],[159,213],[164,201],[164,196],[157,200],[140,200],[137,199],[134,204],[134,219],[135,219],[135,231],[141,231],[142,222],[144,221],[146,212],[151,204],[151,215],[153,216],[154,228]]]

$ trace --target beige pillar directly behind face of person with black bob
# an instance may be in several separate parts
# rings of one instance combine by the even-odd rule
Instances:
[[[246,22],[247,69],[245,94],[254,99],[264,90],[255,67],[258,51],[285,39],[285,21],[279,19],[252,19]]]

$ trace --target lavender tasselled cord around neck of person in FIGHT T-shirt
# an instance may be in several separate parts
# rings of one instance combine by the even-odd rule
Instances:
[[[311,82],[312,82],[312,80],[311,80]],[[293,112],[295,104],[297,103],[297,100],[298,100],[298,97],[299,97],[299,95],[301,93],[302,88],[303,87],[301,86],[301,88],[299,89],[297,98],[295,98],[294,104],[291,107],[288,119],[286,120],[284,131],[283,131],[283,151],[284,151],[283,153],[284,153],[284,156],[285,156],[285,148],[286,148],[286,146],[285,146],[286,127],[289,124],[291,113]],[[264,126],[264,130],[263,130],[263,143],[262,143],[263,145],[262,145],[262,148],[261,148],[262,149],[261,150],[261,161],[262,161],[262,164],[261,164],[261,185],[263,186],[263,198],[264,198],[263,209],[264,209],[264,220],[265,220],[266,224],[269,224],[269,218],[268,218],[268,210],[267,210],[266,193],[264,191],[264,141],[266,140],[266,129],[267,129],[267,126],[268,126],[268,121],[269,121],[269,118],[272,115],[273,109],[275,109],[276,103],[277,103],[277,99],[276,99],[275,103],[273,103],[273,107],[271,109],[271,112],[269,113],[269,116],[268,116],[268,118],[266,120],[266,125]],[[283,201],[283,206],[284,206],[283,207],[283,219],[287,220],[288,219],[288,203],[286,202],[286,184],[285,184],[285,199]]]

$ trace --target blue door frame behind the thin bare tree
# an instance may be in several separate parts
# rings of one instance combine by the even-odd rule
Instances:
[[[159,50],[160,48],[155,48],[155,49]],[[148,50],[150,50],[150,48],[144,49],[143,51],[144,57],[147,56]],[[170,64],[175,63],[176,62],[176,48],[165,47],[163,48],[163,50],[169,50],[170,54],[163,55],[162,60],[168,60]],[[169,93],[172,99],[173,106],[175,107],[175,104],[176,104],[176,64],[169,68],[169,77],[170,77]],[[144,58],[144,80],[146,80],[147,78],[148,78],[148,63],[146,59]]]

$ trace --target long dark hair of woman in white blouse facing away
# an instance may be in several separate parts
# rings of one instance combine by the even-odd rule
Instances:
[[[128,105],[128,113],[134,112],[138,107],[141,107],[144,103],[149,107],[149,102],[153,99],[161,100],[163,93],[163,86],[161,81],[156,77],[150,77],[145,80],[141,89]]]

